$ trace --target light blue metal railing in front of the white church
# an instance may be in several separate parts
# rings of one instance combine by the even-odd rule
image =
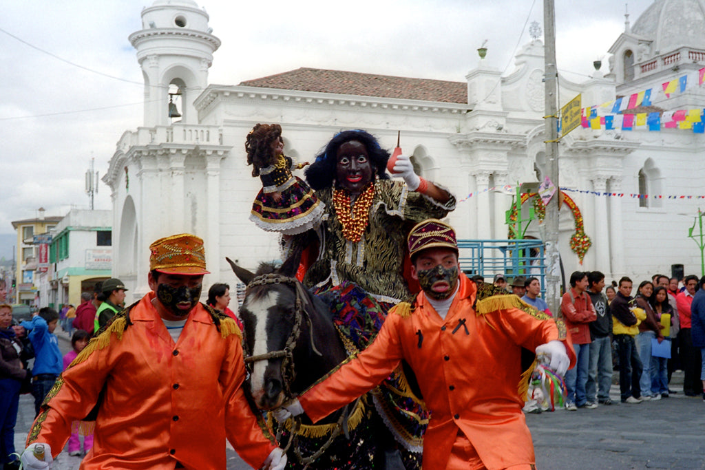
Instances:
[[[510,280],[515,276],[534,276],[541,281],[541,294],[546,293],[546,261],[541,240],[458,240],[460,268],[469,276],[479,274],[492,282],[502,273]]]

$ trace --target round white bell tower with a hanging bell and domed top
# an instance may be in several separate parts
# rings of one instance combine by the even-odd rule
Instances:
[[[129,40],[145,78],[145,127],[198,123],[193,101],[221,44],[208,19],[192,0],[157,0],[142,10],[142,30]]]

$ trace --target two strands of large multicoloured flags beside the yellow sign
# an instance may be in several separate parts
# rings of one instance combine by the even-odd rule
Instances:
[[[582,111],[582,127],[604,130],[637,130],[639,128],[658,131],[666,129],[692,130],[697,134],[705,133],[705,109],[682,109],[678,111],[661,111],[652,113],[625,114],[627,109],[639,106],[651,106],[654,102],[670,99],[687,92],[693,87],[700,87],[705,80],[705,68],[681,75],[668,82],[663,82],[660,88],[644,89],[630,94],[628,97],[616,98],[613,101],[589,106]],[[560,126],[560,120],[559,126]],[[559,128],[560,131],[560,128]]]

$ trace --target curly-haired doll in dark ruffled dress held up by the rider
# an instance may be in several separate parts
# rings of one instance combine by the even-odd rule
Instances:
[[[324,204],[291,173],[293,161],[283,149],[281,125],[257,124],[247,134],[247,165],[252,165],[252,176],[262,180],[250,220],[262,230],[296,235],[319,223]]]

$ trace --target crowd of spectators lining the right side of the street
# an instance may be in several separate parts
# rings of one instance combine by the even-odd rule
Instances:
[[[503,274],[494,285],[539,311],[554,316],[541,299],[538,278]],[[639,404],[674,393],[705,401],[705,276],[682,280],[661,274],[635,285],[628,277],[606,285],[599,271],[576,271],[560,302],[577,362],[565,375],[565,409],[612,404],[613,371],[620,402]],[[673,371],[683,371],[682,390],[670,387]],[[531,400],[527,412],[541,412]]]

